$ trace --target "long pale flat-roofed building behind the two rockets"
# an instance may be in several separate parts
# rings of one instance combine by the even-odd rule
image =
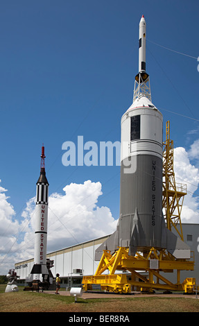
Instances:
[[[181,280],[183,282],[186,277],[195,277],[196,284],[199,284],[199,224],[182,223],[182,232],[184,242],[189,245],[195,261],[194,271],[182,271]],[[62,287],[67,287],[72,284],[80,285],[83,275],[94,275],[98,266],[98,261],[94,260],[95,250],[101,245],[110,235],[93,239],[83,243],[78,243],[75,246],[56,250],[47,254],[47,259],[54,261],[54,266],[51,272],[55,277],[56,273],[60,274]],[[193,259],[193,258],[192,258]],[[26,277],[31,273],[34,264],[34,259],[19,261],[15,264],[15,270],[19,275],[19,283],[24,284]],[[121,273],[121,271],[119,271]],[[164,273],[168,280],[175,280],[176,275],[173,273]]]

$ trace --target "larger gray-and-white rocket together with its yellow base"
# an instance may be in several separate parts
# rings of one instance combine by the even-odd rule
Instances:
[[[142,287],[149,291],[179,291],[184,289],[180,271],[193,270],[189,246],[167,228],[162,213],[162,121],[162,113],[151,102],[146,21],[142,16],[133,103],[121,117],[119,221],[116,231],[96,249],[95,259],[100,262],[95,275],[83,277],[85,289],[101,284],[106,291],[127,293],[132,286],[140,288],[141,280]],[[162,276],[162,272],[173,270],[177,271],[176,284]],[[148,273],[148,277],[139,271]]]

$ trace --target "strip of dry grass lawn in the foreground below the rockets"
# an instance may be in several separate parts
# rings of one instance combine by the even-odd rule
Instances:
[[[131,296],[130,298],[78,298],[23,291],[5,293],[6,285],[0,285],[0,312],[199,312],[199,300],[190,298],[163,298]]]

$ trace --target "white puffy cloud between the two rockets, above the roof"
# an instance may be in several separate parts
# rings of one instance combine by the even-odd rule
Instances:
[[[63,191],[49,197],[48,250],[103,237],[116,229],[110,209],[97,205],[100,182],[71,183]]]

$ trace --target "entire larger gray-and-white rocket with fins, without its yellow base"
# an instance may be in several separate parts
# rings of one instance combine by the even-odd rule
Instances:
[[[114,252],[128,247],[137,251],[166,248],[176,258],[189,258],[186,243],[166,228],[162,214],[162,113],[148,96],[146,83],[146,22],[139,23],[139,73],[130,108],[121,117],[120,215],[116,231],[96,249]],[[150,89],[150,85],[149,85]]]

